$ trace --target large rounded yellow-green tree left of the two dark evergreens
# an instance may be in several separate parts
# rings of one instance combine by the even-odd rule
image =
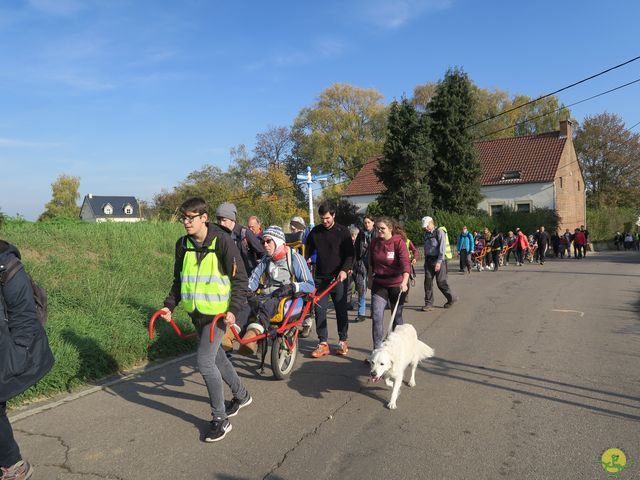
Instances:
[[[315,171],[352,179],[369,157],[382,151],[385,121],[378,91],[332,85],[295,119],[296,155]]]

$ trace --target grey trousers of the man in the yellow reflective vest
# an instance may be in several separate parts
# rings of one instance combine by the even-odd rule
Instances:
[[[244,400],[248,395],[242,380],[236,373],[224,350],[220,348],[220,342],[225,332],[223,320],[219,320],[216,324],[215,338],[213,343],[209,341],[209,332],[212,323],[199,327],[196,322],[198,335],[200,336],[200,344],[198,345],[198,370],[204,379],[209,392],[209,401],[211,402],[211,414],[216,420],[227,418],[224,412],[224,385],[229,385],[231,394]]]

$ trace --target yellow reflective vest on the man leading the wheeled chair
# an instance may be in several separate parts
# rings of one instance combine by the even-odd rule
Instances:
[[[195,246],[185,239],[185,254],[180,274],[180,297],[188,313],[195,310],[205,315],[226,312],[231,300],[231,280],[222,274],[215,253],[217,238],[213,239],[208,252],[198,265]]]

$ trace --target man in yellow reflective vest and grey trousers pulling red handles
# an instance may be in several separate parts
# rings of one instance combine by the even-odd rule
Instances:
[[[170,322],[171,312],[182,303],[196,328],[198,370],[207,387],[213,417],[204,440],[217,442],[231,431],[228,417],[252,401],[220,348],[225,329],[235,323],[236,315],[246,303],[247,273],[227,231],[209,223],[207,202],[203,198],[186,200],[180,206],[180,220],[186,235],[176,242],[173,284],[164,301],[162,318]],[[213,319],[223,313],[224,322],[216,323],[211,342]],[[224,383],[231,389],[230,401],[224,399]]]

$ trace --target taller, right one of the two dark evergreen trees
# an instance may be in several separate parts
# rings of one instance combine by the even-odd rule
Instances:
[[[474,97],[469,77],[449,69],[428,104],[434,168],[430,175],[433,207],[458,213],[478,208],[480,161],[468,125],[473,123]]]

